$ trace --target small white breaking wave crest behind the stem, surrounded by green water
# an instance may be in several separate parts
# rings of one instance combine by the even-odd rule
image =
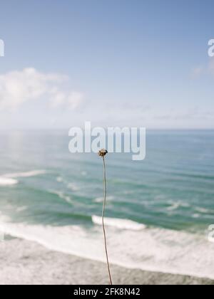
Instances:
[[[102,225],[101,217],[93,215],[91,218],[94,224]],[[113,226],[116,227],[117,229],[130,229],[133,231],[146,229],[146,226],[144,224],[139,224],[135,221],[131,221],[128,219],[105,218],[105,225]]]

